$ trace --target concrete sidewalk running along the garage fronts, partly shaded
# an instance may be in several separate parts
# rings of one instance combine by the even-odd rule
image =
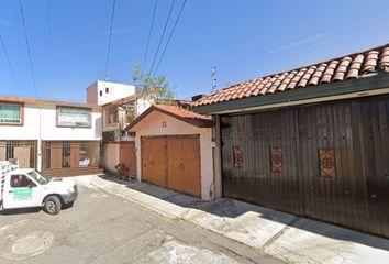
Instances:
[[[178,218],[289,263],[389,263],[389,240],[233,199],[202,201],[110,176],[77,180]]]

